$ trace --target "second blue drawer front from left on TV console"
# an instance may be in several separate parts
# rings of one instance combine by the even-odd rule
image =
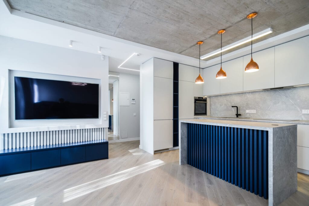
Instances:
[[[60,165],[60,150],[46,150],[31,153],[31,169],[41,169]]]

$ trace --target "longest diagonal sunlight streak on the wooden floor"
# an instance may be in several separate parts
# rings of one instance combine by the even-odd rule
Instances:
[[[87,182],[75,187],[71,187],[69,189],[64,190],[64,200],[63,202],[67,202],[78,198],[80,196],[89,194],[96,190],[102,189],[112,184],[116,184],[118,182],[124,181],[146,171],[155,169],[156,167],[160,167],[161,165],[165,164],[162,160],[156,159],[154,161],[129,168],[124,171],[117,172],[112,175],[108,175],[106,177],[93,180],[91,182]]]

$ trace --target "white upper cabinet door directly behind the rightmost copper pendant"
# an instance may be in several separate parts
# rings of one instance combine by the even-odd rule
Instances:
[[[251,54],[243,57],[243,91],[269,89],[275,87],[275,48],[271,47],[252,54],[259,65],[257,72],[245,72]]]

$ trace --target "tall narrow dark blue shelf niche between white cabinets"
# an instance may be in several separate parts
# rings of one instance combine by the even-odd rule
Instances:
[[[179,146],[178,127],[179,127],[179,64],[173,62],[173,147]]]

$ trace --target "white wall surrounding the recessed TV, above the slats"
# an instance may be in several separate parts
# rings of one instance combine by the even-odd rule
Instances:
[[[99,119],[96,124],[66,120],[65,125],[10,128],[9,120],[14,117],[9,115],[9,69],[99,79],[103,112],[108,111],[108,57],[103,61],[100,55],[4,36],[0,36],[0,45],[0,133],[108,127],[108,119]]]

